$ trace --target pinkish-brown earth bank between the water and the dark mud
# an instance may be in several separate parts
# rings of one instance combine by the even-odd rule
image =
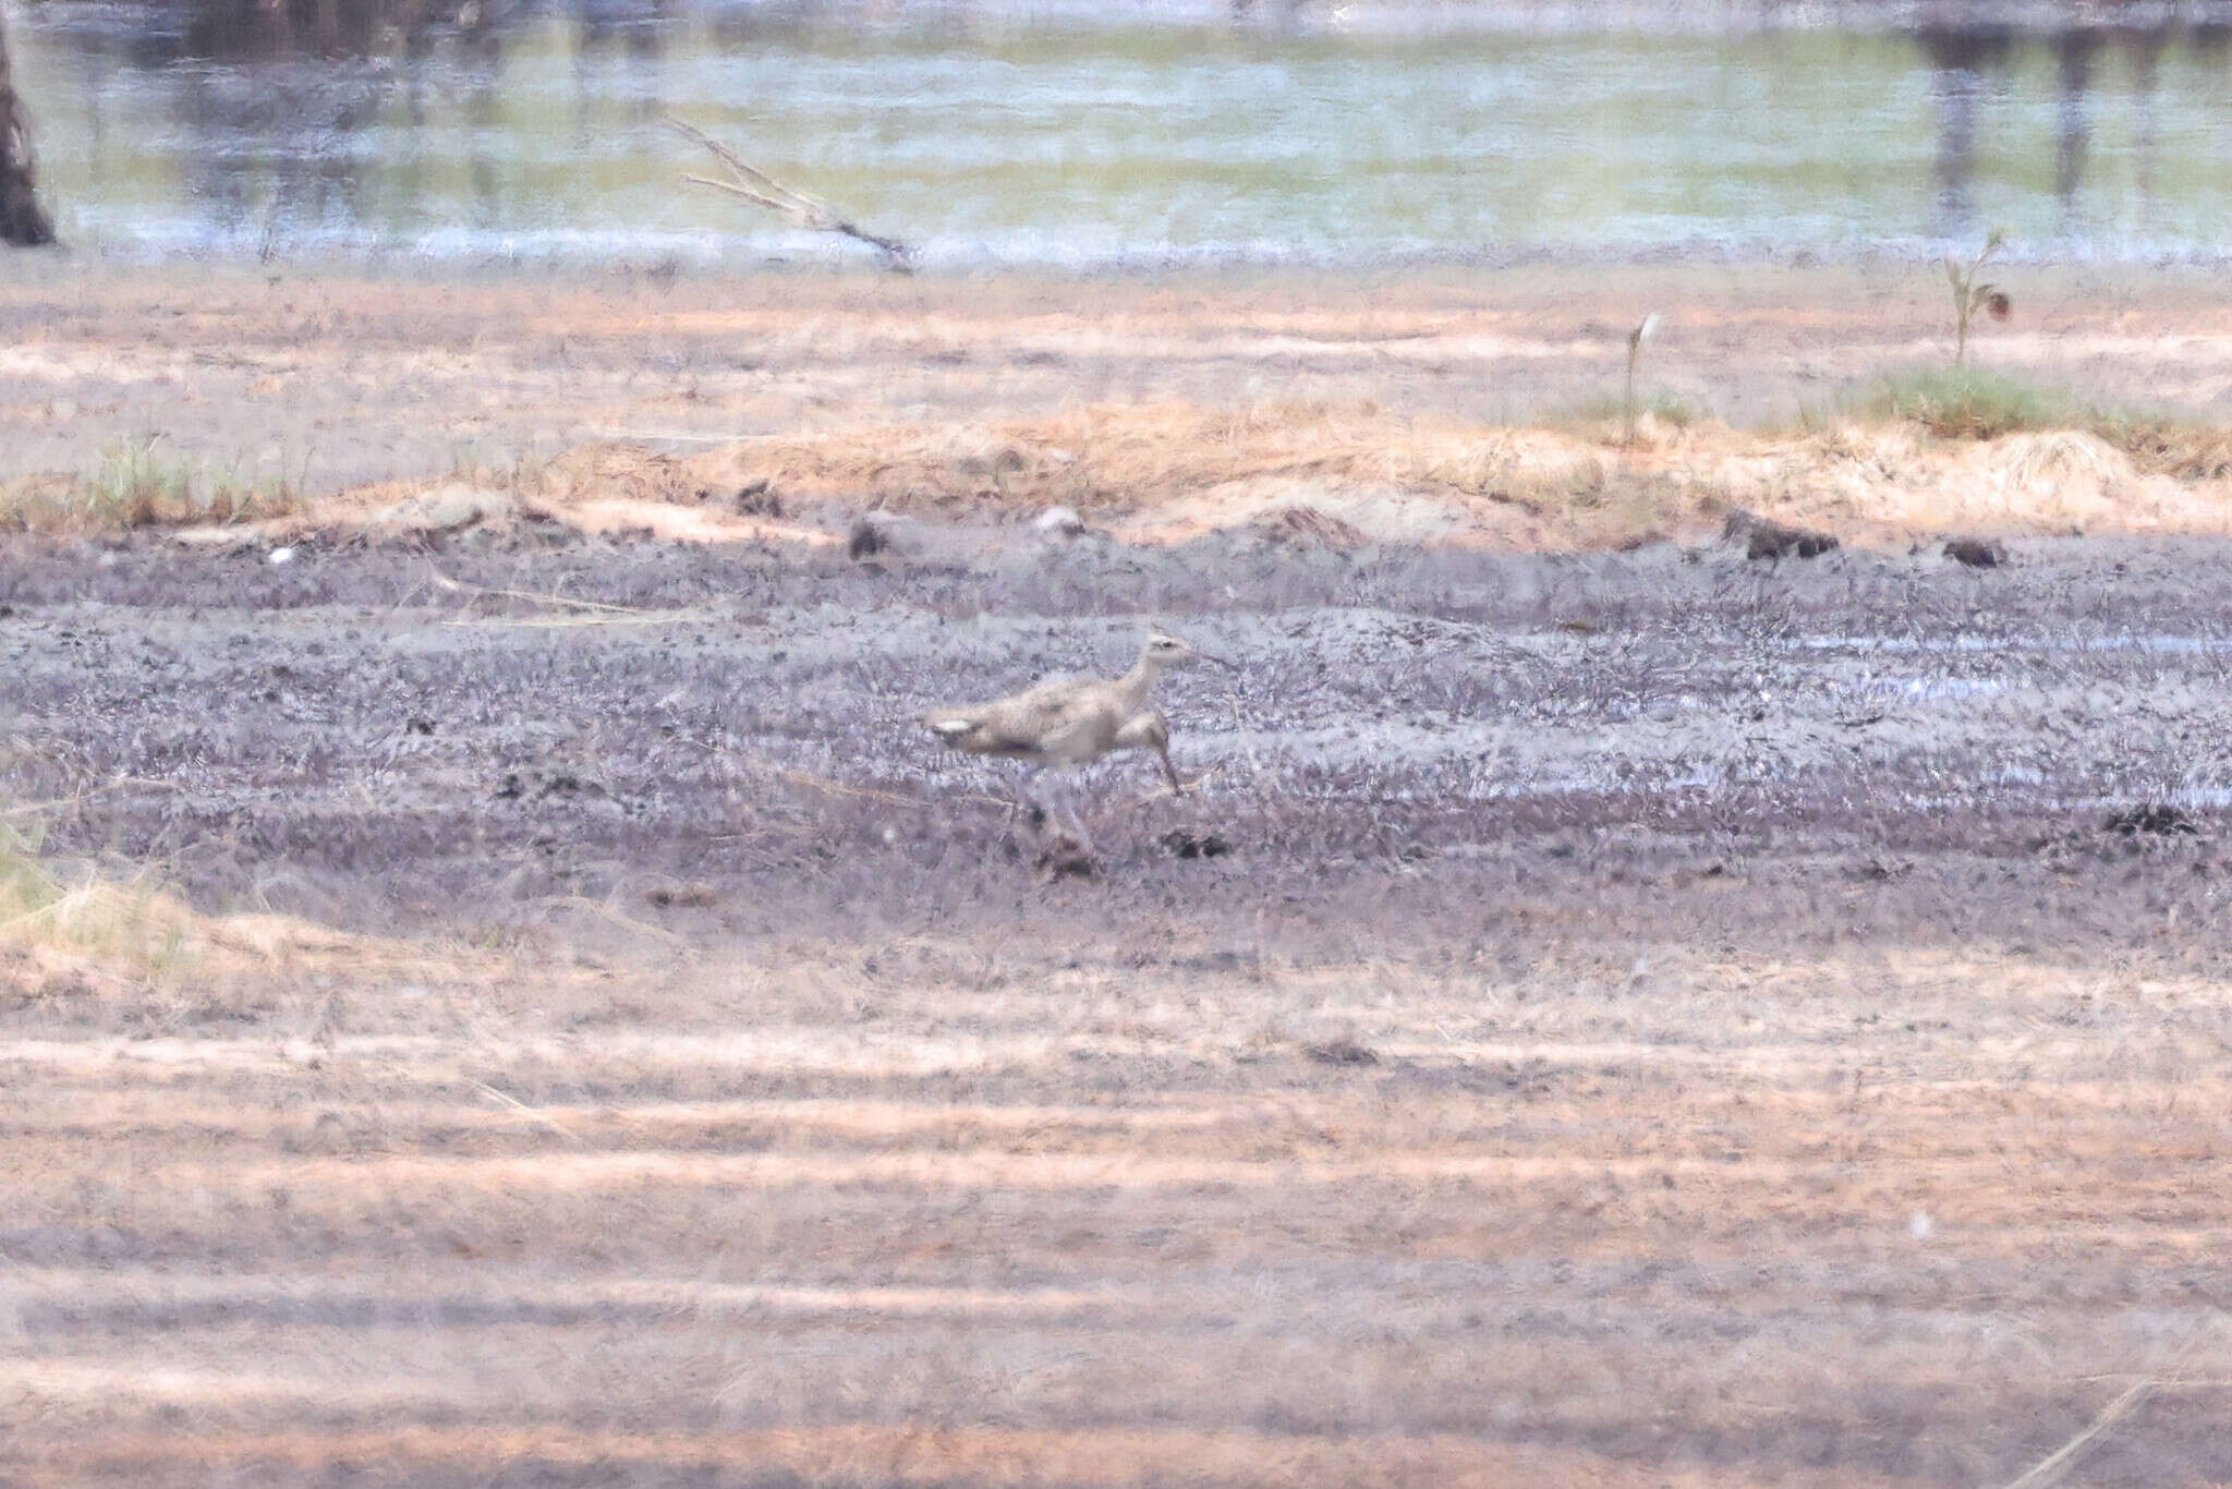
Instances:
[[[0,286],[0,527],[321,522],[304,509],[337,491],[368,516],[429,484],[699,538],[786,505],[1067,505],[1134,540],[1303,505],[1368,540],[1520,549],[1728,505],[1891,538],[2232,527],[2232,295],[2129,268],[2011,288],[1978,362],[2045,402],[1964,426],[1978,442],[1868,415],[1882,380],[1949,359],[1931,266],[567,281],[33,259]],[[1629,438],[1627,333],[1652,310]]]

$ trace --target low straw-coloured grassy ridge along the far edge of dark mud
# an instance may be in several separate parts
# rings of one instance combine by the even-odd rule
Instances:
[[[879,422],[674,453],[598,442],[304,500],[210,478],[156,442],[83,478],[0,491],[0,529],[190,527],[208,540],[355,529],[373,538],[522,516],[672,540],[828,547],[864,507],[1007,522],[1071,507],[1134,542],[1178,542],[1283,511],[1350,542],[1603,549],[1707,534],[1739,505],[1844,536],[2232,531],[2232,431],[2107,415],[1975,368],[1899,375],[1855,415],[1736,431],[1687,411],[1493,426],[1373,400],[1074,404],[1036,420]]]

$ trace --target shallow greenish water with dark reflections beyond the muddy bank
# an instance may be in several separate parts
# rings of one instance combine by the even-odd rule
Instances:
[[[1882,13],[449,0],[404,27],[45,0],[16,45],[67,234],[125,252],[859,252],[681,185],[703,161],[658,109],[931,263],[1850,254],[1984,225],[2038,257],[2223,252],[2228,27]]]

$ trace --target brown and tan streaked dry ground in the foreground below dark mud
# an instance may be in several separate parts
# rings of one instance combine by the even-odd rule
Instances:
[[[2214,993],[2152,967],[922,938],[603,996],[18,1020],[0,1467],[1888,1489],[2228,1364]],[[2219,1409],[2103,1451],[2201,1482]]]

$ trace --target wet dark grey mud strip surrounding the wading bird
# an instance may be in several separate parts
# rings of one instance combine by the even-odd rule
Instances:
[[[1710,897],[1748,935],[2114,940],[2221,895],[2221,542],[2040,540],[1984,574],[1870,551],[1770,571],[1723,545],[913,547],[469,534],[275,565],[18,540],[9,788],[62,801],[51,851],[348,924],[690,882],[685,913],[745,935],[966,926],[1047,904],[1007,806],[1022,775],[913,714],[1114,672],[1163,621],[1237,667],[1165,685],[1199,792],[1089,772],[1105,873],[1058,895],[1087,922],[1368,904],[1478,935],[1513,900],[1585,888],[1618,920],[1734,877],[1752,891]],[[2100,826],[2156,806],[2194,830]]]

